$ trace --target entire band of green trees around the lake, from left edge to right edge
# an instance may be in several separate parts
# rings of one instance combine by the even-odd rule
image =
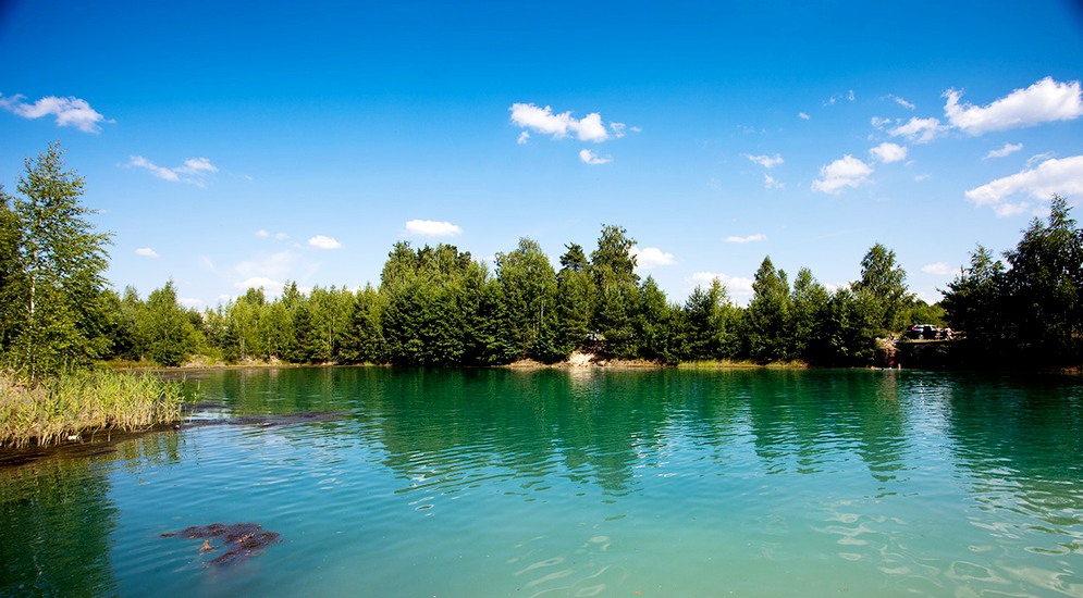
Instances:
[[[734,360],[866,365],[876,338],[911,323],[947,323],[965,333],[973,363],[1083,361],[1083,231],[1063,198],[1047,222],[1023,232],[1007,265],[979,246],[969,267],[926,304],[907,287],[896,254],[881,244],[861,276],[828,289],[802,267],[789,275],[764,258],[753,297],[735,304],[718,281],[669,301],[636,273],[636,240],[603,225],[595,248],[564,247],[559,269],[521,238],[493,269],[451,245],[395,244],[378,287],[287,283],[204,311],[186,310],[171,282],[146,299],[102,277],[109,236],[78,203],[83,179],[51,146],[17,185],[0,188],[0,350],[10,369],[58,370],[97,360],[181,365],[193,356],[230,363],[390,363],[494,365],[553,363],[574,351],[679,363]]]

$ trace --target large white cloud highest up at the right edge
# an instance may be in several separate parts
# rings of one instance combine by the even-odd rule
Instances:
[[[962,92],[955,89],[945,92],[948,101],[944,114],[952,126],[969,135],[1083,116],[1083,92],[1078,80],[1059,83],[1046,77],[985,107],[960,104],[961,96]]]

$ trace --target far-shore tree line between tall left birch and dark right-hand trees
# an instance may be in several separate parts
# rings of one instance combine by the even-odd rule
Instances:
[[[555,269],[539,244],[521,238],[497,253],[490,271],[452,245],[395,244],[379,287],[359,290],[287,283],[202,312],[177,306],[172,283],[146,301],[134,288],[107,292],[113,357],[183,363],[192,353],[227,362],[496,365],[553,363],[574,351],[679,363],[739,360],[863,365],[876,337],[910,320],[939,320],[907,290],[894,251],[874,245],[861,278],[828,290],[809,269],[792,285],[765,258],[748,307],[717,279],[684,303],[669,301],[652,277],[636,273],[636,241],[603,226],[588,256],[565,246]]]

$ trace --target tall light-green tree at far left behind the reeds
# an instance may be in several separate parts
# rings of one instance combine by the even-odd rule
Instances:
[[[84,179],[65,170],[52,144],[27,159],[3,235],[15,223],[17,241],[2,251],[0,306],[9,363],[33,377],[87,366],[108,351],[103,273],[110,236],[95,231],[94,212],[79,202]],[[13,221],[12,221],[13,217]]]

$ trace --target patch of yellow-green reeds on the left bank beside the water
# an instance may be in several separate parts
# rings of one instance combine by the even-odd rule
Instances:
[[[0,447],[54,445],[181,419],[181,384],[151,374],[77,372],[28,383],[0,372]]]

